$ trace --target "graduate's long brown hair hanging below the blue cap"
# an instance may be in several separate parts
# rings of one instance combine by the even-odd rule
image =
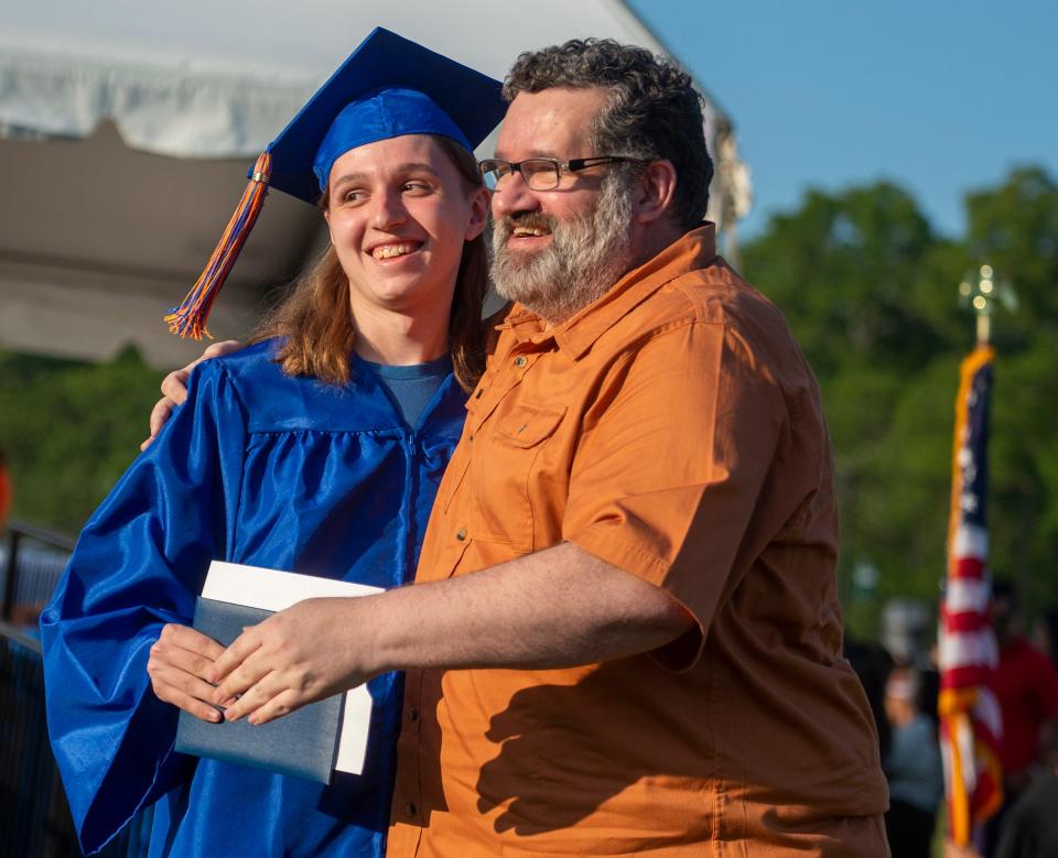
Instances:
[[[444,137],[433,140],[452,159],[467,191],[479,187],[482,177],[474,156]],[[326,205],[326,195],[321,200]],[[449,317],[449,351],[452,370],[469,392],[485,370],[485,325],[482,303],[488,287],[485,238],[463,242],[463,257],[455,279]],[[277,362],[289,376],[312,376],[331,384],[349,380],[349,356],[356,329],[349,306],[349,281],[334,247],[293,284],[290,294],[258,326],[251,343],[280,337]]]

